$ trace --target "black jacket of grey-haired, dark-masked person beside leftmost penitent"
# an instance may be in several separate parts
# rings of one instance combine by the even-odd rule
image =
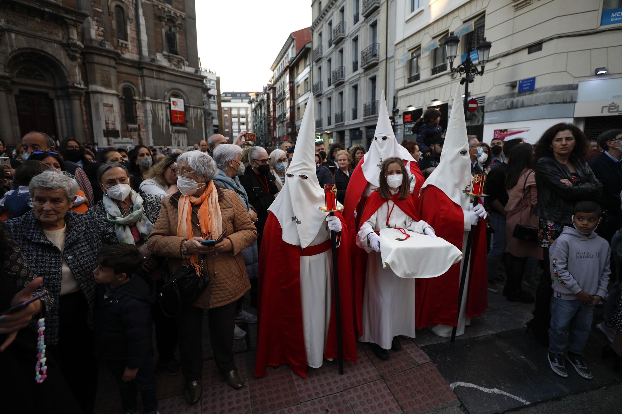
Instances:
[[[261,175],[260,181],[258,175],[253,171],[253,168],[247,167],[244,175],[239,177],[239,182],[242,183],[244,190],[246,190],[248,203],[256,210],[257,221],[255,222],[255,226],[257,228],[257,241],[261,242],[261,235],[264,232],[264,226],[268,218],[268,207],[272,205],[274,195],[279,192],[279,189],[274,183],[274,174]]]

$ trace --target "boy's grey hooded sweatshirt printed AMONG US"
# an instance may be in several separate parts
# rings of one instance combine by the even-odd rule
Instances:
[[[596,232],[587,236],[565,226],[550,246],[550,277],[554,297],[576,300],[582,290],[605,297],[609,282],[609,243]]]

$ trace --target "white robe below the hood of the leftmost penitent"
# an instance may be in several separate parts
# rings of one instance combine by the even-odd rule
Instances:
[[[310,246],[330,239],[328,225],[323,224]],[[319,368],[330,324],[333,257],[331,249],[312,256],[300,256],[300,305],[302,329],[307,353],[307,366]]]

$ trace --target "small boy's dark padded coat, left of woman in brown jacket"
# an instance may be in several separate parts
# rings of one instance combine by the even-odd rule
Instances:
[[[134,278],[104,298],[97,285],[95,349],[103,359],[125,361],[129,368],[151,362],[151,305],[156,302],[156,282]]]

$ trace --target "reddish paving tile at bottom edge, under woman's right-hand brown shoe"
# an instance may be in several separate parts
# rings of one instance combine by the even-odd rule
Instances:
[[[203,413],[251,413],[251,392],[248,380],[244,387],[234,389],[229,384],[216,384],[203,389]]]

